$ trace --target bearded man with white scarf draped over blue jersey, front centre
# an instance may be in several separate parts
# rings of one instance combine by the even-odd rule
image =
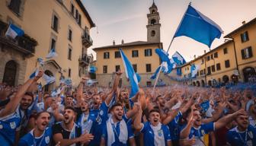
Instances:
[[[111,116],[105,123],[101,146],[121,146],[128,145],[127,141],[133,138],[133,132],[130,125],[127,125],[128,119],[123,116],[123,106],[121,103],[114,103],[110,108]],[[130,141],[130,145],[134,145],[134,139]]]

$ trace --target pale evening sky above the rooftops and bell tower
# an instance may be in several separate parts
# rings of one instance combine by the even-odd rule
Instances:
[[[85,8],[97,27],[91,28],[93,45],[88,53],[94,55],[93,48],[133,41],[146,41],[148,23],[146,14],[149,14],[149,7],[152,0],[82,0]],[[161,24],[161,42],[165,51],[181,22],[187,5],[191,5],[211,20],[219,24],[224,33],[220,39],[213,41],[209,48],[188,37],[174,38],[169,55],[175,51],[181,53],[186,61],[194,59],[194,55],[203,55],[224,43],[226,34],[242,26],[242,21],[248,22],[256,17],[256,0],[155,0],[158,7]]]

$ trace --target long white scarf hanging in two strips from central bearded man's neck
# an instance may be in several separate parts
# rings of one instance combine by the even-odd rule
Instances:
[[[111,144],[116,141],[115,139],[115,130],[114,129],[114,122],[112,117],[110,117],[107,120],[107,146],[110,146]],[[120,121],[120,135],[118,135],[119,141],[123,144],[126,144],[126,141],[128,140],[128,130],[126,122],[122,119]]]

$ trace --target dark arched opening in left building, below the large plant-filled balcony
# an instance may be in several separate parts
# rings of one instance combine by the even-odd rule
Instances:
[[[17,63],[14,62],[14,60],[7,62],[5,65],[5,73],[4,73],[3,82],[10,86],[14,86],[16,71],[17,71]]]

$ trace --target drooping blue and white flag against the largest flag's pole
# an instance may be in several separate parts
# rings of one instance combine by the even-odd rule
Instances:
[[[155,53],[158,54],[158,56],[161,60],[161,64],[163,65],[162,71],[165,74],[169,74],[173,69],[173,64],[171,64],[171,61],[168,57],[169,56],[168,53],[165,52],[165,50],[163,50],[163,49],[155,49]]]

